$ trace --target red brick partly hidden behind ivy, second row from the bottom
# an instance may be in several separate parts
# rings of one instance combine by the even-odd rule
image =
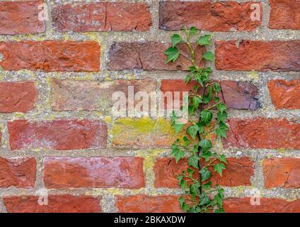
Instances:
[[[171,161],[171,162],[170,162]],[[250,177],[253,176],[254,163],[248,157],[227,158],[228,165],[223,172],[223,177],[217,175],[213,170],[212,182],[226,187],[250,186]],[[160,158],[154,165],[155,187],[175,188],[178,185],[178,175],[186,171],[188,168],[188,160],[180,160],[178,164],[174,159]],[[197,177],[197,175],[195,175]]]

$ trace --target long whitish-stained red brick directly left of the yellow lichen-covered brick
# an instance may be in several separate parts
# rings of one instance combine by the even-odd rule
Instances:
[[[105,148],[107,126],[101,121],[54,120],[8,122],[11,150]]]

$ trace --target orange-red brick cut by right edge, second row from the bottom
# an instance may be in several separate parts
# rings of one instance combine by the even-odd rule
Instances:
[[[300,158],[270,158],[262,162],[265,187],[300,188]]]

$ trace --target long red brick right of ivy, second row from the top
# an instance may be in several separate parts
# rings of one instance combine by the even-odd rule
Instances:
[[[300,40],[216,42],[217,70],[300,71]]]

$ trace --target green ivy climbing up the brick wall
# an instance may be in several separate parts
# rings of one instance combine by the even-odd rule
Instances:
[[[227,162],[209,138],[226,138],[229,129],[226,125],[226,104],[219,98],[221,85],[210,79],[212,69],[205,67],[206,62],[214,61],[214,53],[206,51],[206,47],[211,45],[211,35],[200,36],[195,27],[183,28],[183,31],[185,38],[174,34],[171,37],[172,46],[165,52],[166,63],[175,62],[180,55],[190,61],[185,83],[195,83],[188,96],[184,97],[187,105],[181,107],[181,111],[185,109],[188,112],[188,121],[180,121],[176,111],[171,114],[175,132],[183,133],[183,137],[173,143],[172,155],[176,162],[188,158],[188,169],[178,176],[182,189],[180,208],[191,213],[221,213],[224,212],[224,189],[214,185],[211,178],[212,172],[222,176]],[[197,40],[192,42],[195,35]]]

